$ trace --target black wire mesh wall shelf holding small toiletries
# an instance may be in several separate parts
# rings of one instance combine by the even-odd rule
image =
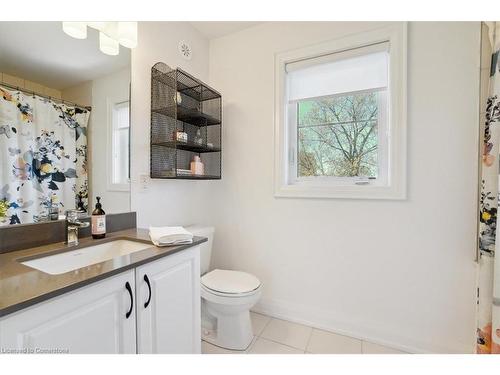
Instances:
[[[221,138],[220,93],[182,69],[155,64],[151,68],[151,178],[220,179]],[[204,165],[203,174],[190,169],[195,156]]]

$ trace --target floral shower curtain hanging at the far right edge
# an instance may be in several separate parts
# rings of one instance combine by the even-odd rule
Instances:
[[[484,122],[479,230],[477,353],[500,353],[500,233],[497,228],[500,143],[500,24],[493,25]],[[495,35],[496,29],[496,35]]]

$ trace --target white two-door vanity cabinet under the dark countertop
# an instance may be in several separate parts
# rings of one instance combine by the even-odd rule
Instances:
[[[0,348],[200,353],[199,251],[179,251],[0,318]]]

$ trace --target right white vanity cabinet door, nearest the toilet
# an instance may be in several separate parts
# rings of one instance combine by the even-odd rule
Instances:
[[[200,353],[199,256],[193,247],[136,269],[139,353]]]

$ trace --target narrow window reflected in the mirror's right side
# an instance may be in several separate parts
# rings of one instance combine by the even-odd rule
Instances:
[[[129,101],[115,103],[112,105],[111,184],[114,190],[128,190],[128,182],[130,178],[129,113],[130,113]]]

